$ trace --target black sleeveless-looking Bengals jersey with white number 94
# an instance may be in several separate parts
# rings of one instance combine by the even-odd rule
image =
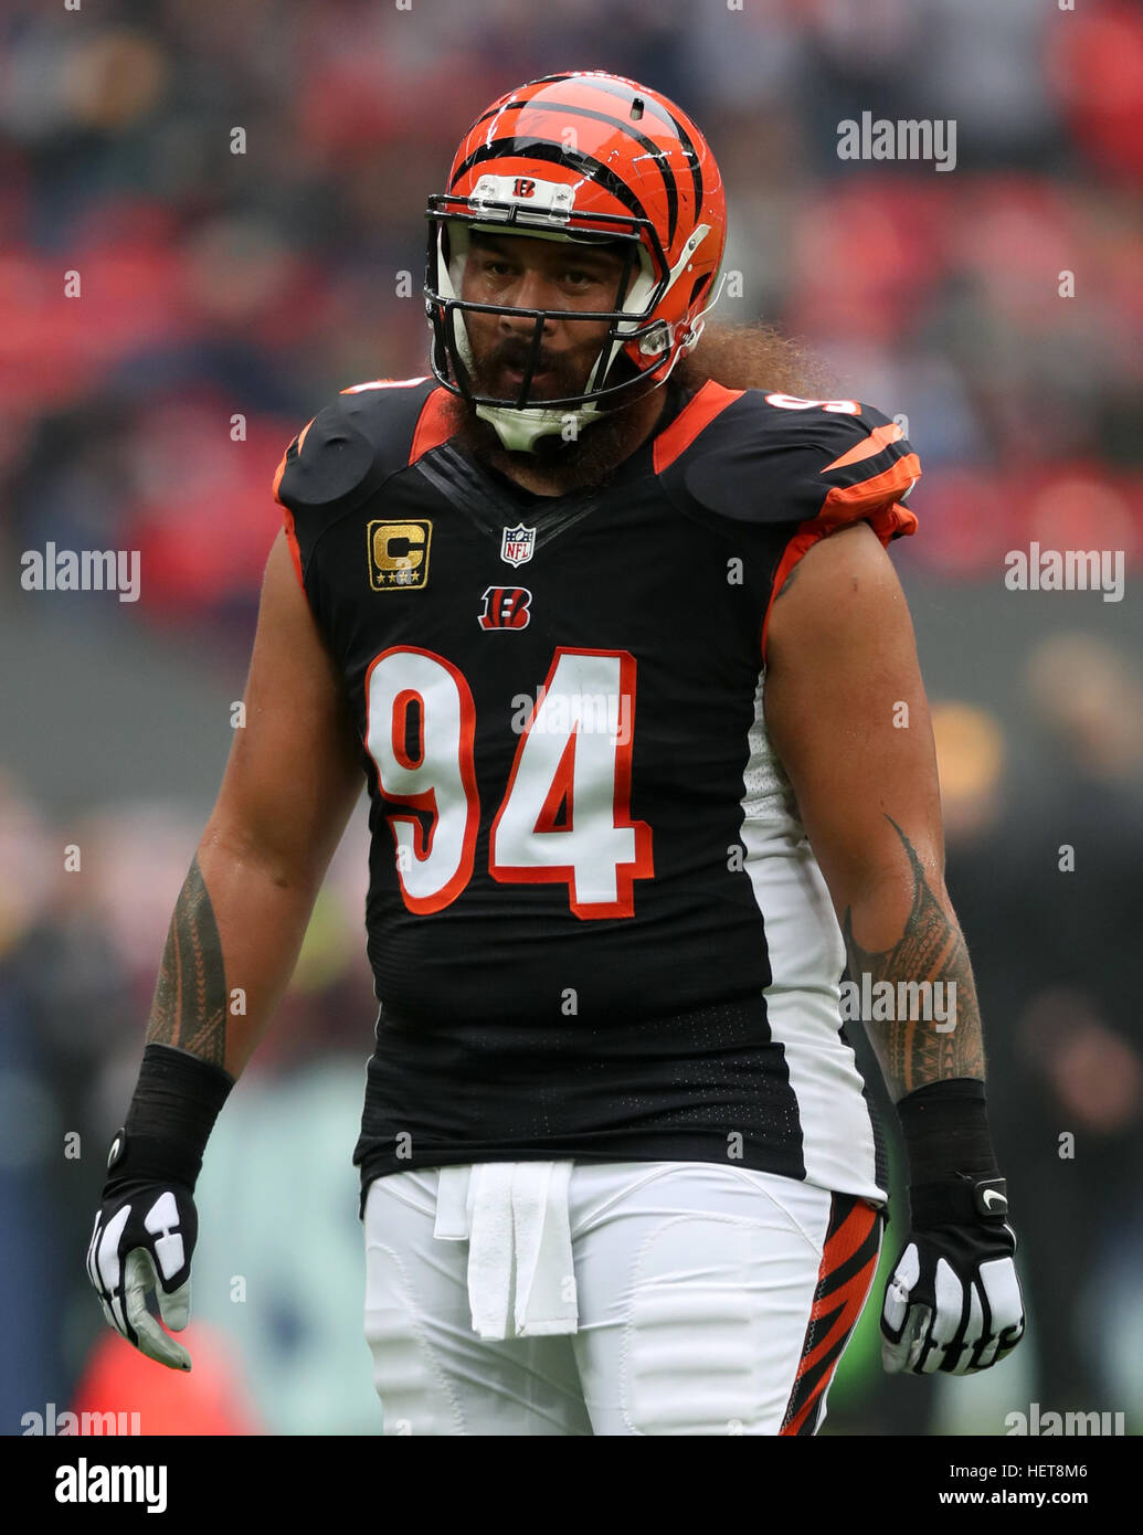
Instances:
[[[555,499],[460,451],[433,379],[345,390],[279,467],[371,800],[362,1190],[732,1159],[885,1197],[766,629],[815,540],[913,531],[921,470],[856,401],[667,388],[604,485]]]

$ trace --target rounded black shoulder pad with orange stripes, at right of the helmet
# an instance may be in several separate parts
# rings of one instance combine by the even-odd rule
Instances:
[[[861,401],[744,390],[678,471],[689,499],[735,522],[870,520],[882,542],[916,528],[901,502],[921,462],[901,427]]]

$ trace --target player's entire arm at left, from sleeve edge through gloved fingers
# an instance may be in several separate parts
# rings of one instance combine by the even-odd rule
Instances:
[[[167,1326],[186,1326],[203,1150],[293,973],[362,781],[341,680],[279,534],[245,725],[175,903],[138,1085],[87,1248],[107,1320],[172,1369],[190,1369],[190,1355],[147,1297],[158,1292]]]

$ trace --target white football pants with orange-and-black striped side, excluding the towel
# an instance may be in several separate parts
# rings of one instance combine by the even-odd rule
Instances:
[[[878,1266],[867,1200],[715,1162],[575,1162],[577,1329],[519,1337],[509,1320],[488,1339],[473,1326],[469,1242],[434,1237],[439,1180],[425,1168],[368,1188],[365,1337],[384,1434],[821,1428]]]

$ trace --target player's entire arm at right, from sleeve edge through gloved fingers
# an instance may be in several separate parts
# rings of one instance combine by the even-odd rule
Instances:
[[[867,523],[822,539],[795,565],[770,611],[766,660],[767,731],[850,976],[859,987],[864,975],[888,981],[894,999],[908,998],[902,1016],[865,1025],[910,1156],[911,1230],[882,1311],[885,1366],[983,1369],[1023,1334],[1014,1237],[987,1124],[976,985],[945,889],[913,625]],[[899,982],[942,982],[948,1015]]]

